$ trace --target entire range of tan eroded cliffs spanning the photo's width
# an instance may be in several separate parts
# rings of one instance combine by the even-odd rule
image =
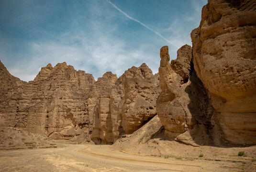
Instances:
[[[108,144],[160,120],[161,134],[194,146],[256,144],[256,0],[208,1],[193,48],[182,46],[169,63],[162,47],[156,75],[142,64],[95,82],[62,63],[26,83],[0,62],[0,127]]]

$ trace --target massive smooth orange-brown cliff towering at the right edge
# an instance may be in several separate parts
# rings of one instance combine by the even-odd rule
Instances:
[[[209,0],[191,32],[195,71],[225,140],[256,143],[256,0]]]

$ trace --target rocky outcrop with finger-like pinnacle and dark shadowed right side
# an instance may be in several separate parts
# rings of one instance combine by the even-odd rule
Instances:
[[[177,59],[170,64],[168,47],[160,50],[162,93],[156,101],[157,114],[170,138],[178,136],[176,140],[192,145],[210,144],[211,118],[215,111],[193,69],[192,48],[184,45],[177,53]]]

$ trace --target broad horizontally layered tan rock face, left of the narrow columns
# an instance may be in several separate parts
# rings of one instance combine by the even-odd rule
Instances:
[[[65,62],[42,67],[17,97],[16,127],[52,139],[82,140],[92,125],[86,94],[94,82],[91,74]]]

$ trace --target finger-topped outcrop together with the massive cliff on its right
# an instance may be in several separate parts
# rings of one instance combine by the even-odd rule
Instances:
[[[255,11],[256,0],[209,0],[193,48],[181,47],[171,63],[168,47],[160,50],[156,107],[166,135],[193,145],[256,144]]]

